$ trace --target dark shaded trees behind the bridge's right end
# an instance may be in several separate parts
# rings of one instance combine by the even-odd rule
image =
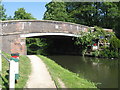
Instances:
[[[67,12],[73,18],[73,22],[88,26],[111,28],[119,32],[120,3],[70,2],[66,5]]]

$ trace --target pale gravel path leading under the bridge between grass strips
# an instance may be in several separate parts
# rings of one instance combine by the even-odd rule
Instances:
[[[27,82],[27,88],[56,88],[43,61],[35,56],[28,55],[32,64],[32,72]]]

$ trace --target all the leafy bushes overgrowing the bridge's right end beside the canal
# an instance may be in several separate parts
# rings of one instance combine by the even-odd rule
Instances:
[[[99,47],[101,51],[96,50],[91,52],[92,56],[98,57],[119,57],[120,39],[114,33],[105,32],[102,28],[95,26],[94,32],[82,32],[81,37],[77,38],[76,44],[82,45],[82,55],[84,55],[89,45],[93,45],[94,40],[102,41],[103,43],[110,43],[110,46],[104,45]],[[103,38],[100,38],[100,37]]]

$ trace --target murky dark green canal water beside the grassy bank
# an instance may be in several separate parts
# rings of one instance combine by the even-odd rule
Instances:
[[[83,56],[49,56],[62,67],[97,83],[98,88],[118,88],[118,60]]]

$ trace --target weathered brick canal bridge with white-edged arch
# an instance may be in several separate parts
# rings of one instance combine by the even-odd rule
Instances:
[[[0,44],[2,45],[2,51],[6,53],[20,53],[25,55],[27,53],[26,37],[44,35],[61,35],[76,37],[76,34],[80,33],[81,31],[87,32],[89,28],[90,27],[88,26],[61,21],[48,21],[48,20],[1,21]]]

